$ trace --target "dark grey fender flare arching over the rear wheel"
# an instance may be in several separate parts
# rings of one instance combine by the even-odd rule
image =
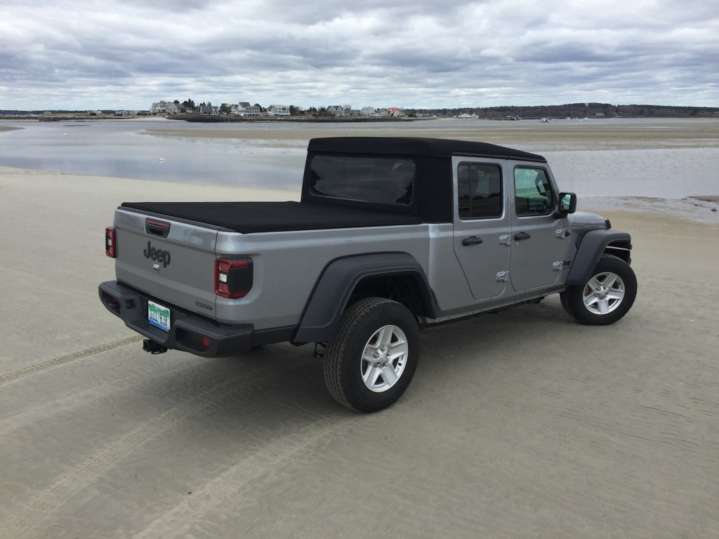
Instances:
[[[408,253],[359,254],[334,259],[320,274],[305,305],[293,344],[331,340],[357,283],[365,277],[409,275],[421,282],[423,301],[434,310],[429,282],[417,260]]]

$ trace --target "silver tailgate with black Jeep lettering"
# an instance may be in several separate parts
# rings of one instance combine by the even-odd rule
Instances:
[[[216,229],[122,209],[115,212],[114,226],[117,280],[215,318]]]

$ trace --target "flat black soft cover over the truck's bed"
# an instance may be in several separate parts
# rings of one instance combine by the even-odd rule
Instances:
[[[421,224],[421,218],[302,202],[124,202],[121,208],[242,234]]]

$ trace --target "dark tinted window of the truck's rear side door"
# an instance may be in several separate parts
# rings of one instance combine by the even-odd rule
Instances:
[[[460,163],[457,187],[459,218],[502,216],[502,174],[498,165]]]

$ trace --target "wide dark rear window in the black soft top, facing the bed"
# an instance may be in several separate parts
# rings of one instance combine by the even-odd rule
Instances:
[[[415,163],[407,157],[315,155],[309,193],[348,201],[409,206]]]

